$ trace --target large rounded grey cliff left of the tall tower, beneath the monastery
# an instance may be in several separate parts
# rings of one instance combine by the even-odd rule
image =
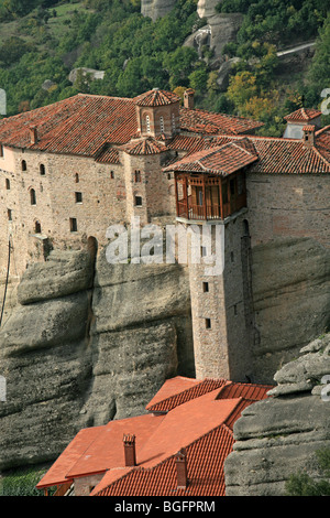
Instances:
[[[185,276],[74,251],[26,270],[0,332],[0,471],[53,462],[81,428],[141,413],[167,377],[194,375]]]

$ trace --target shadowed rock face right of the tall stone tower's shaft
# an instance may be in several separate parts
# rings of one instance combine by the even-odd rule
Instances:
[[[255,381],[272,384],[330,326],[330,252],[309,238],[260,244],[252,248],[252,278]]]

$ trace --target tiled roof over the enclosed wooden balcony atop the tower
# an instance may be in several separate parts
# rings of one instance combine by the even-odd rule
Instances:
[[[252,164],[257,159],[253,143],[244,139],[188,154],[165,168],[165,171],[188,171],[227,176]]]

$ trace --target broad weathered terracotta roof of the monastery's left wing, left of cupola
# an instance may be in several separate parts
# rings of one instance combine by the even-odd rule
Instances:
[[[30,139],[31,126],[37,130],[35,144]],[[84,157],[95,157],[107,142],[127,143],[136,131],[132,99],[80,94],[0,120],[2,144]]]

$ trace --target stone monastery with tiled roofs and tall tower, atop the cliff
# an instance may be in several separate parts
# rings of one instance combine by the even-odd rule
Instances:
[[[52,248],[107,245],[107,228],[132,216],[221,225],[223,274],[189,267],[196,375],[244,381],[251,246],[330,244],[330,127],[320,116],[301,108],[285,138],[263,138],[260,122],[195,109],[193,90],[180,106],[155,88],[133,99],[77,95],[3,119],[0,276],[8,248],[20,277]]]

